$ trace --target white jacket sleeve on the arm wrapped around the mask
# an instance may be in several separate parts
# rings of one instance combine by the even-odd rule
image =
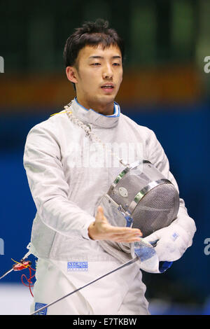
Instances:
[[[160,172],[162,172],[162,174],[166,177],[166,179],[169,179],[169,181],[171,181],[179,191],[179,187],[176,183],[176,180],[174,179],[174,176],[169,170],[169,160],[165,155],[165,151],[160,145],[160,142],[155,136],[155,133],[152,130],[150,130],[150,133],[150,137],[148,138],[146,144],[148,160],[151,161],[151,163],[155,167],[157,167]],[[188,248],[193,243],[193,236],[195,235],[196,227],[195,221],[193,221],[193,218],[190,218],[190,216],[188,215],[185,202],[181,198],[178,216],[175,221],[172,222],[171,225],[174,224],[179,225],[181,227],[181,230],[183,229],[185,233],[187,233],[188,239],[186,240],[186,248]]]

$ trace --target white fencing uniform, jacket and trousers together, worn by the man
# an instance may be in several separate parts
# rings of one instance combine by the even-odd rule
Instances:
[[[154,132],[120,113],[116,102],[113,116],[87,110],[76,98],[71,111],[124,162],[149,160],[178,189]],[[96,205],[125,168],[101,146],[66,111],[27,136],[24,166],[37,209],[29,250],[38,258],[31,311],[121,265],[87,233]],[[186,233],[184,252],[192,244],[195,223],[183,200],[176,221]],[[145,291],[134,263],[52,305],[47,314],[149,314]]]

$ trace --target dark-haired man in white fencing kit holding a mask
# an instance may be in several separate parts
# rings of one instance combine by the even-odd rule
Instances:
[[[123,80],[123,58],[123,41],[108,22],[86,22],[76,29],[64,48],[66,76],[76,97],[27,136],[24,165],[37,208],[29,249],[38,258],[31,311],[121,265],[99,241],[140,240],[139,229],[113,227],[104,209],[97,207],[123,168],[122,162],[113,165],[113,144],[141,144],[141,156],[177,187],[155,134],[120,113],[114,102]],[[109,165],[107,153],[100,162],[104,154],[87,137],[87,128],[101,141],[99,145],[110,146]],[[174,232],[178,239],[172,241]],[[195,223],[181,200],[176,223],[155,232],[148,241],[158,239],[160,261],[173,261],[192,244],[194,233]],[[145,291],[141,271],[132,264],[53,304],[43,314],[149,314]]]

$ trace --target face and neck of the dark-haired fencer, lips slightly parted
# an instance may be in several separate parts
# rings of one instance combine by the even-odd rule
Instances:
[[[113,114],[113,102],[123,80],[122,55],[117,46],[103,50],[102,45],[86,45],[78,53],[76,66],[66,68],[66,75],[76,84],[81,105],[106,116]]]

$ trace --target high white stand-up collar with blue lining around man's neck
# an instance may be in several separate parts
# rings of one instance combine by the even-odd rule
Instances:
[[[118,120],[120,118],[120,106],[116,102],[114,102],[114,113],[111,116],[104,116],[104,114],[97,113],[92,109],[85,109],[85,107],[78,103],[75,97],[71,103],[71,111],[78,119],[83,121],[83,123],[92,123],[92,125],[97,127],[115,127],[118,125]]]

